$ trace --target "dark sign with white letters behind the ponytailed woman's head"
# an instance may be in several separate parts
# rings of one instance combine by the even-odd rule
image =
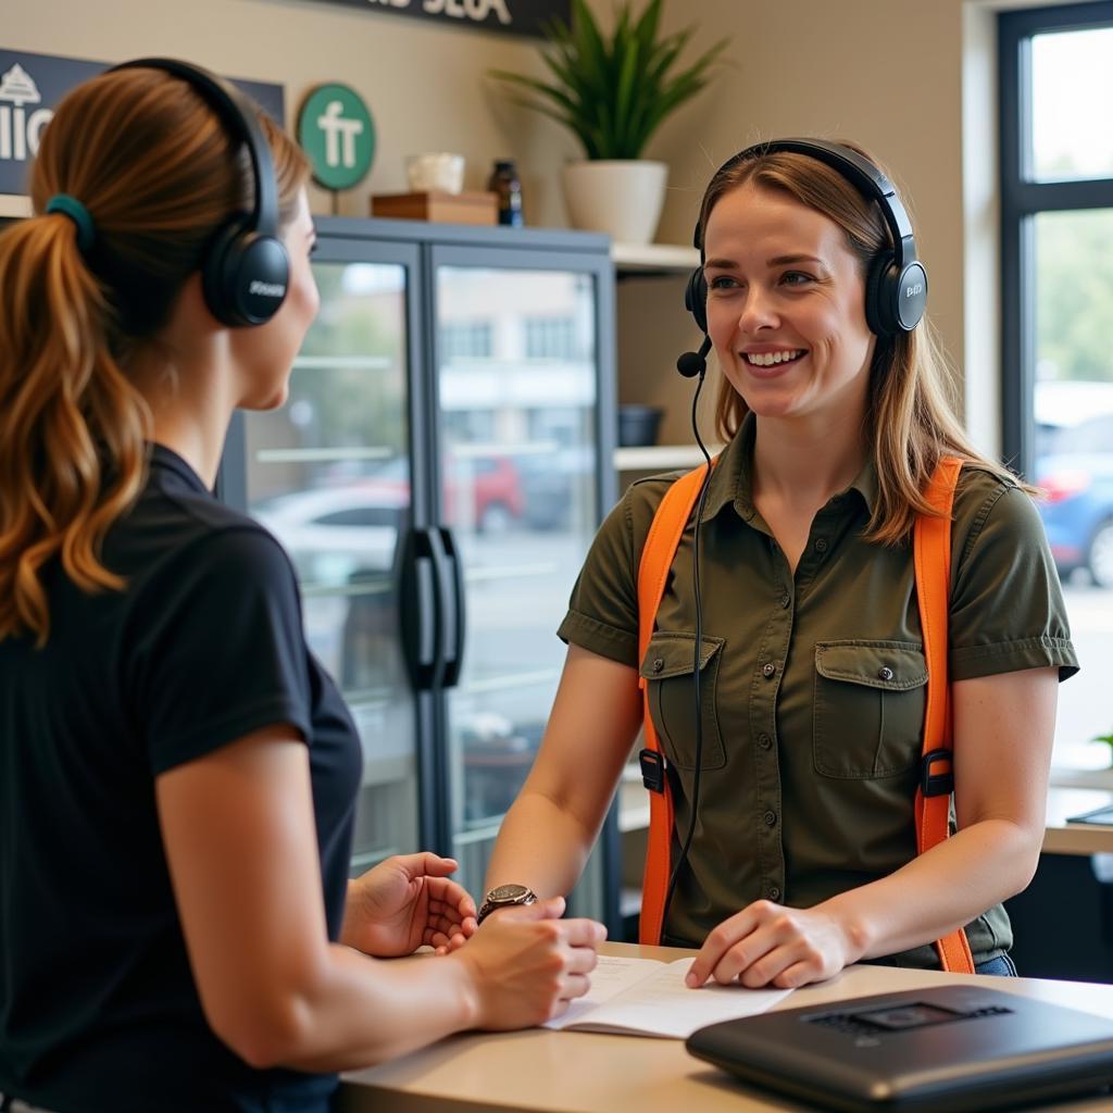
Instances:
[[[26,194],[30,161],[55,107],[76,85],[108,69],[110,62],[56,58],[0,48],[0,194]],[[233,78],[264,111],[282,125],[283,87]]]

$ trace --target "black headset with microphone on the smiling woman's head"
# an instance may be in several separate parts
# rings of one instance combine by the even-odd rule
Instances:
[[[866,324],[876,336],[910,333],[924,316],[927,304],[927,272],[916,257],[912,221],[888,178],[867,158],[839,144],[818,139],[774,139],[755,144],[728,159],[715,178],[747,159],[788,151],[807,155],[837,170],[869,200],[876,200],[893,238],[893,247],[873,258],[866,277]],[[707,280],[703,277],[703,239],[699,221],[692,243],[699,248],[700,265],[692,270],[684,289],[684,307],[705,335],[699,352],[686,352],[677,359],[677,371],[684,377],[700,375],[707,367],[711,341],[707,338]]]

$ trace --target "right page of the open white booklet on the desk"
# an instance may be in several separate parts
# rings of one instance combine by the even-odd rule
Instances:
[[[689,989],[684,975],[692,962],[681,958],[659,966],[584,1016],[579,1027],[684,1040],[707,1024],[764,1013],[792,992],[715,983]]]

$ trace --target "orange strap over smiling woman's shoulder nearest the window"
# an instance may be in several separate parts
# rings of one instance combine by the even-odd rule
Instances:
[[[916,849],[938,846],[951,835],[952,761],[951,682],[947,677],[947,618],[951,609],[951,516],[962,461],[944,456],[925,492],[938,518],[916,519],[913,552],[919,623],[927,661],[927,711],[924,716],[924,756],[916,789]],[[966,932],[957,928],[935,944],[945,971],[974,973]]]

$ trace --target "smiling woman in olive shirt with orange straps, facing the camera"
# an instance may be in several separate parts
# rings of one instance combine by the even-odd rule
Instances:
[[[690,985],[938,967],[933,942],[963,928],[966,968],[1015,973],[1001,902],[1036,866],[1056,683],[1077,666],[1031,492],[971,447],[946,401],[898,207],[846,145],[759,145],[712,178],[688,301],[722,371],[728,443],[658,580],[644,651],[639,569],[676,475],[634,483],[600,530],[489,869],[491,885],[569,890],[641,722],[641,679],[674,808],[661,938],[700,948]],[[912,541],[917,518],[947,520],[926,500],[946,456],[963,464],[939,545],[957,831],[917,856],[928,669]],[[948,764],[927,765],[944,837]]]

